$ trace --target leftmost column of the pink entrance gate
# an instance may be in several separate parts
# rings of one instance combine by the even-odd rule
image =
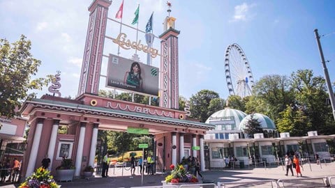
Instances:
[[[33,173],[35,169],[35,164],[36,164],[37,154],[38,154],[38,146],[40,146],[40,135],[42,133],[43,122],[44,122],[44,119],[38,118],[37,124],[36,124],[36,130],[34,133],[34,140],[31,146],[27,172],[25,175],[26,178],[29,175],[31,175],[31,173]]]

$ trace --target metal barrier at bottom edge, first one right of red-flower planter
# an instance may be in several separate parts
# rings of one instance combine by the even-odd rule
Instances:
[[[276,180],[258,180],[241,182],[218,182],[218,188],[228,187],[278,187]]]

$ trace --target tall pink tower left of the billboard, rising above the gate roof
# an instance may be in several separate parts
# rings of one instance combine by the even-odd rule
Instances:
[[[78,96],[84,93],[98,95],[107,15],[111,3],[112,1],[95,0],[89,6],[89,26],[82,58]]]

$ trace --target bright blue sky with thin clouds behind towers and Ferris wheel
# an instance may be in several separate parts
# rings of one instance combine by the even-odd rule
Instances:
[[[15,42],[21,34],[32,42],[31,53],[42,61],[37,77],[54,75],[61,70],[62,96],[77,95],[82,56],[89,19],[88,6],[93,0],[1,0],[0,38]],[[335,1],[177,1],[172,0],[179,35],[179,94],[189,98],[209,89],[227,98],[225,49],[237,43],[251,65],[254,80],[265,75],[290,75],[299,69],[311,69],[323,77],[314,29],[318,29],[328,72],[335,81]],[[114,0],[108,17],[114,19],[121,0]],[[140,4],[139,29],[144,30],[154,12],[154,34],[163,33],[166,1],[125,0],[123,22],[130,24]],[[119,24],[107,21],[106,36],[116,38]],[[122,27],[135,40],[133,29]],[[329,35],[328,35],[329,34]],[[139,39],[144,36],[139,34]],[[156,38],[154,47],[160,49]],[[121,50],[131,58],[133,50]],[[105,40],[104,53],[117,54],[117,46]],[[139,54],[142,62],[146,54]],[[159,58],[153,65],[159,66]],[[107,72],[103,58],[102,75]],[[101,78],[101,89],[105,78]],[[38,95],[47,93],[47,88]]]

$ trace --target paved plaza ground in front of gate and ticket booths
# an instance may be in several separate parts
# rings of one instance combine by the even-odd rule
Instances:
[[[322,164],[304,164],[301,169],[302,178],[320,177],[320,176],[335,176],[335,162]],[[294,169],[295,170],[295,169]],[[246,169],[221,169],[216,171],[203,171],[204,181],[213,182],[235,182],[248,180],[270,180],[270,179],[296,179],[296,176],[285,176],[283,166],[272,166],[268,168],[248,168]],[[73,182],[59,182],[61,188],[66,187],[140,187],[140,186],[155,186],[162,185],[161,181],[165,179],[168,173],[156,173],[156,175],[144,175],[143,184],[142,177],[137,175],[131,176],[130,171],[124,170],[122,175],[121,169],[109,169],[107,178],[91,178],[89,180],[77,179]],[[295,171],[294,171],[295,173]],[[290,173],[289,173],[290,174]],[[296,174],[295,174],[296,175]],[[0,185],[0,187],[17,187],[18,185]]]

